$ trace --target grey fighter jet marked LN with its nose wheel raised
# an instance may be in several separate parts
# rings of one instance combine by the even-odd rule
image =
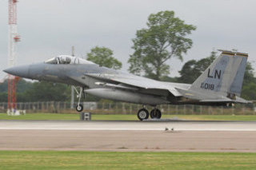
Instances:
[[[192,85],[155,81],[97,65],[80,57],[60,55],[47,61],[5,69],[14,76],[38,81],[53,81],[78,87],[78,105],[82,112],[82,94],[114,101],[141,104],[140,121],[161,118],[157,105],[234,105],[248,103],[240,97],[248,54],[220,50],[220,55]],[[80,89],[79,89],[80,88]],[[149,113],[146,105],[153,106]]]

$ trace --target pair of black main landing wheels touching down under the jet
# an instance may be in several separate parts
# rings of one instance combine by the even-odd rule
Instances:
[[[150,113],[147,111],[147,109],[142,108],[138,110],[137,116],[139,121],[146,120],[149,117],[151,117],[151,119],[160,119],[162,117],[162,113],[157,108],[152,109]]]

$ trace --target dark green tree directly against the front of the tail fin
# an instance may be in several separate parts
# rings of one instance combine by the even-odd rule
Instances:
[[[202,58],[199,61],[190,60],[182,66],[182,69],[178,72],[181,77],[178,77],[178,81],[182,83],[193,83],[214,61],[217,52],[212,51],[210,57]]]

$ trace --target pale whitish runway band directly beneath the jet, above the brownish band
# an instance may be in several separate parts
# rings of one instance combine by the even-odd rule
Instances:
[[[5,130],[256,131],[248,121],[0,121]]]

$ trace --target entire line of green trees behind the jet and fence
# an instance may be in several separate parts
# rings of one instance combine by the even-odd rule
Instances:
[[[179,77],[169,77],[170,65],[166,62],[172,57],[183,60],[193,45],[190,34],[196,26],[186,24],[175,17],[174,11],[160,11],[150,14],[146,28],[137,30],[132,40],[134,53],[130,54],[128,63],[129,72],[149,77],[158,81],[174,81],[193,83],[199,75],[217,57],[212,51],[209,57],[200,60],[190,60],[182,66]],[[122,62],[113,57],[113,50],[105,46],[95,46],[86,54],[86,59],[112,69],[121,69]],[[247,100],[256,100],[256,77],[250,62],[246,65],[246,73],[242,87],[242,97]],[[86,101],[98,101],[97,97],[86,97]],[[7,81],[0,85],[0,101],[7,101]],[[17,101],[70,101],[70,87],[58,83],[44,81],[18,81]]]

